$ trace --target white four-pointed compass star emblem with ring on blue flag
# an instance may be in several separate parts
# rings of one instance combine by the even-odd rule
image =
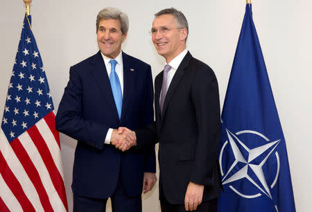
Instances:
[[[253,191],[257,191],[254,194],[244,194],[244,191],[239,191],[238,188],[234,188],[234,185],[229,185],[235,193],[245,198],[255,198],[262,194],[267,195],[272,200],[272,195],[270,189],[272,189],[279,177],[279,154],[276,150],[277,145],[279,145],[280,139],[277,141],[270,141],[266,136],[259,132],[252,130],[243,130],[233,134],[229,130],[225,129],[227,132],[227,141],[223,144],[220,151],[219,163],[221,168],[222,182],[225,184],[232,184],[238,180],[248,180],[256,188]],[[245,143],[243,143],[238,136],[257,136],[257,139],[264,140],[264,145],[258,145],[254,148],[248,148]],[[231,148],[234,154],[234,161],[229,164],[228,170],[223,170],[222,159],[224,157],[223,151],[225,150],[227,144]],[[263,165],[266,164],[270,155],[275,152],[275,159],[277,161],[277,168],[273,173],[275,173],[275,179],[271,184],[268,184],[265,172],[263,172]],[[274,176],[274,175],[273,175]]]

